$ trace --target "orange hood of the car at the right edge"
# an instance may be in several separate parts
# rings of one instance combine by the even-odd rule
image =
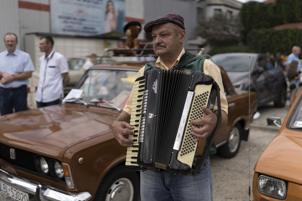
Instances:
[[[254,170],[302,184],[301,158],[302,137],[279,134],[265,148]]]

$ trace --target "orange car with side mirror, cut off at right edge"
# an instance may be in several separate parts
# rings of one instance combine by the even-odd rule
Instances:
[[[302,200],[302,90],[281,126],[278,117],[268,124],[280,127],[254,168],[254,201]]]

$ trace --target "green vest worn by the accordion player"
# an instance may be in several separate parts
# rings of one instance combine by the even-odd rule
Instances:
[[[186,57],[186,59],[188,59],[188,58],[190,58],[190,57],[192,57],[192,56],[195,56],[195,55],[191,54],[190,52],[188,52],[188,51],[186,51],[186,50],[185,50],[185,53],[188,54],[188,56]],[[206,58],[204,58],[204,57],[199,57],[199,58],[197,58],[196,60],[194,60],[193,62],[191,62],[191,63],[185,65],[185,66],[183,67],[183,69],[184,69],[185,71],[190,71],[190,72],[196,72],[196,71],[198,71],[198,72],[204,72],[204,60],[205,60],[205,59],[206,59]],[[155,61],[155,62],[156,62],[156,61]],[[154,62],[154,63],[155,63],[155,62]],[[149,66],[148,64],[146,64],[146,65],[145,65],[144,75],[146,75],[146,72],[147,72],[148,70],[151,70],[151,69],[152,69],[151,66]],[[209,141],[209,139],[210,139],[210,136],[207,137],[206,144],[207,144],[207,142]],[[213,155],[213,154],[216,154],[216,143],[215,143],[215,139],[214,139],[214,141],[213,141],[213,143],[212,143],[212,145],[211,145],[211,147],[210,147],[210,150],[209,150],[209,152],[208,152],[207,155],[209,156],[209,155]]]

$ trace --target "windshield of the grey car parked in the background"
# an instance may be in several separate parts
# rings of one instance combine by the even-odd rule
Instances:
[[[249,59],[251,57],[251,59]],[[221,65],[226,71],[246,72],[249,71],[249,64],[255,56],[249,55],[231,55],[231,54],[217,54],[212,56],[215,64]]]

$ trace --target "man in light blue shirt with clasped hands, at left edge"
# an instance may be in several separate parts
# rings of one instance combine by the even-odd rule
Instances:
[[[0,53],[0,112],[1,115],[27,110],[27,84],[35,70],[28,53],[16,49],[18,37],[4,36],[7,48]]]

